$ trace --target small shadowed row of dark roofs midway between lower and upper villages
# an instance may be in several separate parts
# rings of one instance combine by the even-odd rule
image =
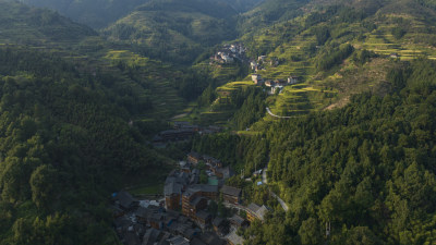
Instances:
[[[168,142],[186,140],[195,134],[214,134],[221,132],[222,128],[219,126],[201,127],[193,125],[190,122],[174,122],[173,130],[167,130],[158,133],[154,138],[154,144],[161,144]]]

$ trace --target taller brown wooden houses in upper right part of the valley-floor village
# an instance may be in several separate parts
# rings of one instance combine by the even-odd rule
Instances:
[[[195,167],[204,161],[210,173],[215,173],[219,179],[217,183],[198,184],[199,170]],[[213,174],[211,174],[213,175]],[[165,207],[167,210],[181,210],[183,216],[194,221],[202,229],[214,228],[216,234],[226,236],[228,244],[239,244],[237,235],[229,235],[230,226],[246,226],[255,219],[264,220],[267,212],[266,206],[251,204],[247,207],[241,206],[242,191],[237,187],[223,184],[223,181],[234,175],[230,168],[222,168],[222,163],[211,157],[202,156],[196,152],[187,155],[187,163],[180,170],[172,171],[165,184]],[[238,215],[230,219],[214,217],[207,211],[207,207],[213,200],[218,200],[219,196],[223,201],[233,205],[246,212],[246,220]],[[233,237],[234,236],[234,237]]]

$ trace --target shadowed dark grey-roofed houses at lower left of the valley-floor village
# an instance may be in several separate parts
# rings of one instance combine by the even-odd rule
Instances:
[[[114,229],[125,245],[225,245],[215,232],[202,232],[186,216],[161,205],[140,205],[126,192],[112,195]],[[220,223],[221,225],[221,223]]]

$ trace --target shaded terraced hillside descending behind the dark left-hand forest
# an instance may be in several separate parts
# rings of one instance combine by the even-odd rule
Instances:
[[[52,11],[5,1],[0,5],[2,46],[27,46],[60,56],[101,79],[111,75],[105,84],[112,100],[129,108],[135,120],[168,120],[183,110],[185,99],[178,87],[185,71],[134,53],[132,47],[113,46],[89,27]]]

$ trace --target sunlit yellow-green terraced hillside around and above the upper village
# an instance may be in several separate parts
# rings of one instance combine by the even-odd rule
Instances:
[[[432,21],[436,14],[417,1],[320,3],[313,1],[303,8],[308,13],[238,39],[254,60],[266,54],[257,72],[264,79],[300,77],[298,85],[268,98],[274,114],[329,110],[343,107],[354,94],[386,93],[385,77],[396,60],[436,59],[436,25]],[[271,65],[271,60],[279,64]]]

